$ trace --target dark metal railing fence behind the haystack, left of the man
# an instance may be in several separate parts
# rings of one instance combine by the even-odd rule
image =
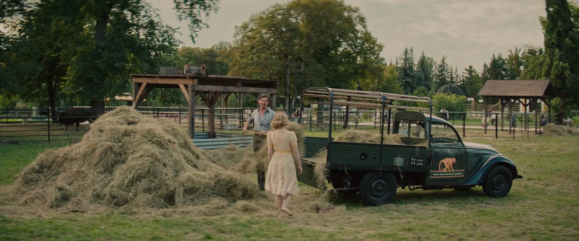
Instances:
[[[67,108],[0,107],[0,142],[10,139],[19,142],[78,141],[88,131],[88,124],[98,118],[94,113],[107,113],[113,109],[115,107],[75,107],[75,110],[80,112],[69,112],[63,116]],[[169,118],[181,125],[185,131],[188,128],[189,115],[186,107],[140,107],[138,112],[153,118]],[[195,108],[196,132],[209,131],[209,112],[207,107]],[[217,131],[241,130],[245,120],[247,114],[242,108],[215,108]]]

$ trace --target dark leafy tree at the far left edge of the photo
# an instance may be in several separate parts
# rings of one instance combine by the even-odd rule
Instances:
[[[14,1],[16,2],[16,1]],[[23,2],[20,2],[23,3]],[[56,107],[59,89],[66,82],[71,38],[82,31],[82,5],[78,1],[41,1],[34,8],[10,5],[3,18],[8,27],[9,46],[0,71],[5,94],[51,109]],[[53,110],[53,116],[56,114]]]

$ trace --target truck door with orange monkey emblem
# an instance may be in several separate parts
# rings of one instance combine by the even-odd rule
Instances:
[[[432,123],[430,127],[432,158],[427,186],[455,186],[466,180],[467,156],[464,144],[453,127]]]

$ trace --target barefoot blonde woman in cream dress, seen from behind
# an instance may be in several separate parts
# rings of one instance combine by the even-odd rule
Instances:
[[[292,216],[288,210],[292,195],[299,192],[298,174],[302,173],[302,162],[299,158],[298,138],[293,131],[285,129],[288,124],[287,114],[276,113],[273,116],[272,128],[274,131],[267,133],[267,175],[265,177],[265,190],[276,195],[276,204],[279,216],[283,212]],[[295,161],[294,161],[295,160]]]

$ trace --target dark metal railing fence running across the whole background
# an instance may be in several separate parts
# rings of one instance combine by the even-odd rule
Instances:
[[[89,123],[94,120],[92,112],[109,112],[115,107],[105,109],[89,109],[89,107],[77,107],[83,110],[73,115],[61,116],[67,107],[50,109],[47,107],[0,107],[0,142],[6,140],[26,141],[77,141],[82,138],[89,128]],[[278,109],[284,111],[283,109]],[[138,112],[154,118],[169,118],[186,129],[188,128],[188,109],[186,107],[140,107]],[[302,125],[307,130],[327,131],[329,127],[329,110],[303,109]],[[396,112],[392,112],[394,115]],[[345,119],[345,111],[336,109],[332,112],[332,128],[339,131],[344,128],[351,129],[380,129],[380,112],[377,110],[364,110],[351,108],[349,117]],[[547,123],[556,123],[557,114],[549,113],[481,113],[481,112],[433,112],[448,120],[461,136],[489,137],[489,138],[528,138],[532,135],[542,135],[543,127]],[[60,116],[60,117],[59,117]],[[292,120],[298,121],[295,113],[290,114]],[[249,117],[248,109],[243,108],[215,108],[216,131],[240,131],[245,120]],[[64,125],[57,122],[68,123]],[[73,124],[73,120],[79,121],[79,128]],[[197,107],[195,109],[195,131],[209,131],[209,109]],[[556,123],[562,124],[562,123]],[[574,125],[577,128],[577,125]],[[384,128],[392,129],[392,126]]]

